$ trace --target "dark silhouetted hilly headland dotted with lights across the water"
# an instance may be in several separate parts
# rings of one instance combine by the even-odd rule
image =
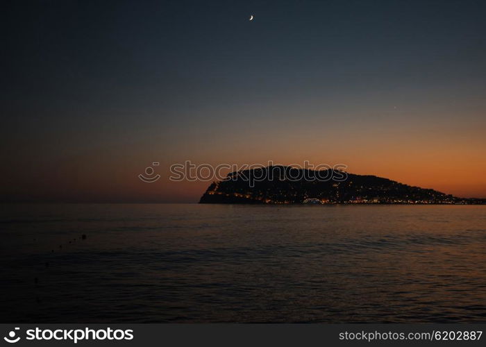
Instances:
[[[322,177],[330,179],[319,179]],[[486,199],[459,198],[434,189],[412,187],[388,178],[344,174],[333,169],[313,171],[274,166],[232,172],[224,180],[213,182],[201,196],[199,203],[486,205]]]

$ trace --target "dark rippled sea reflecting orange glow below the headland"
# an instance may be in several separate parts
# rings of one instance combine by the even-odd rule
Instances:
[[[3,205],[0,228],[2,322],[486,322],[486,206]]]

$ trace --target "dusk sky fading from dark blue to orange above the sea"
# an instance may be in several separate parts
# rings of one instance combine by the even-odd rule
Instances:
[[[486,197],[485,1],[3,1],[4,201],[194,202],[170,164]],[[249,21],[250,15],[254,16]],[[137,178],[152,162],[162,179]]]

